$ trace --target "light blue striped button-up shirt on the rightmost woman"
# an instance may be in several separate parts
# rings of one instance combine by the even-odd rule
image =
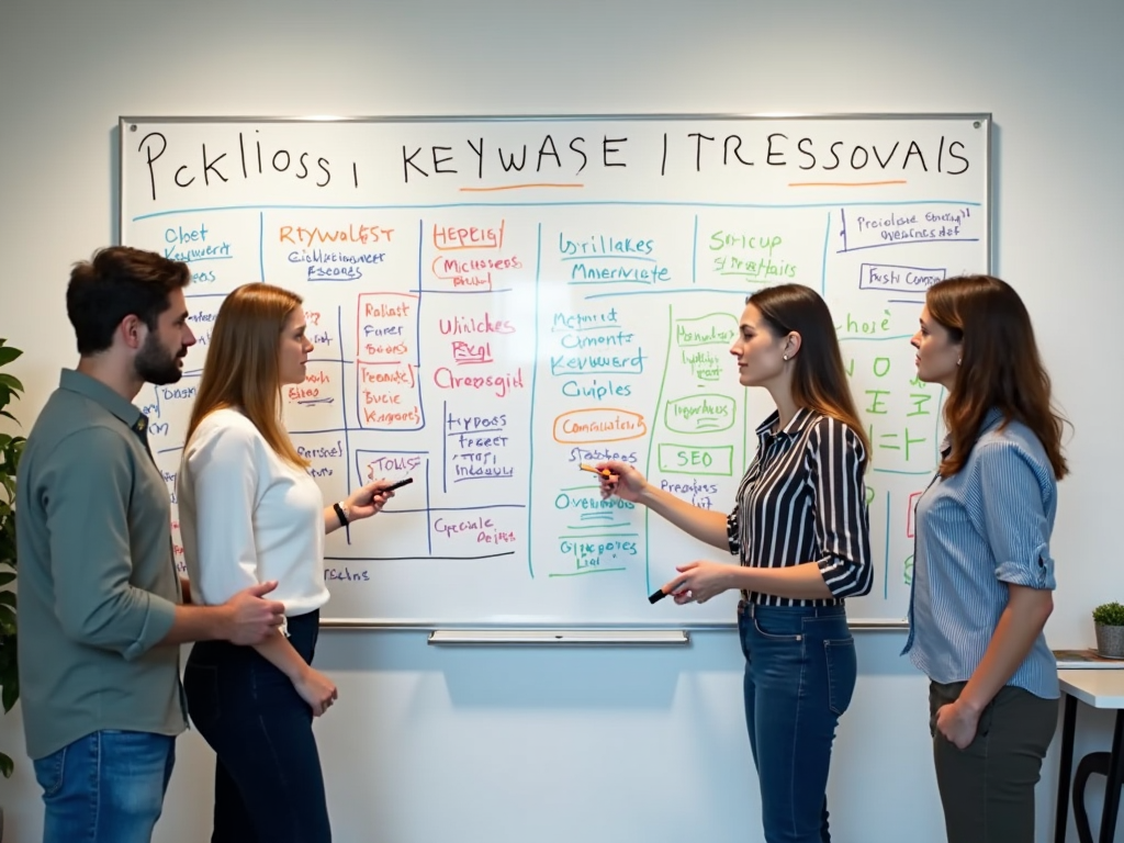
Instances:
[[[1031,429],[1001,423],[999,410],[991,410],[964,466],[934,478],[917,501],[909,637],[901,652],[935,682],[971,678],[1007,606],[1008,584],[1055,587],[1050,535],[1058,481]],[[945,439],[945,453],[948,445]],[[1044,635],[1007,685],[1058,698],[1058,665]]]

